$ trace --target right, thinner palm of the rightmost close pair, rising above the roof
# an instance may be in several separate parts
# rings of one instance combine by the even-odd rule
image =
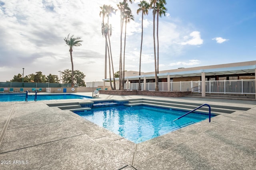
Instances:
[[[158,0],[156,2],[156,39],[157,39],[157,73],[159,73],[159,39],[158,39],[158,25],[159,25],[159,16],[165,16],[167,9],[165,8],[166,0]]]

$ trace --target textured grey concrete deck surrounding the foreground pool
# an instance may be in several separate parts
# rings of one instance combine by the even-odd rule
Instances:
[[[135,144],[71,111],[46,105],[82,100],[0,102],[0,169],[256,169],[256,101],[103,94],[99,100],[134,98],[251,109]]]

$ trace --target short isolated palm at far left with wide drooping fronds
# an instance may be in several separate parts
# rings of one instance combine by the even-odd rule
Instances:
[[[75,46],[81,46],[82,44],[80,42],[82,42],[82,40],[80,40],[80,37],[76,37],[74,38],[74,35],[72,35],[71,37],[69,37],[70,33],[68,34],[68,38],[64,38],[64,41],[66,42],[66,44],[69,47],[69,52],[70,52],[70,59],[71,59],[71,65],[72,65],[72,73],[71,73],[71,87],[74,87],[74,64],[73,64],[73,58],[72,58],[72,51],[73,51],[73,47]]]

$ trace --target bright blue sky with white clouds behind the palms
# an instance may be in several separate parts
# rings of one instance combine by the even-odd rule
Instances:
[[[73,48],[74,70],[85,82],[104,79],[105,39],[100,6],[121,0],[0,0],[0,82],[14,75],[60,75],[71,70],[64,38],[80,37]],[[129,6],[125,70],[139,71],[142,14],[139,0]],[[148,1],[149,2],[149,1]],[[256,0],[166,0],[159,18],[159,70],[256,60]],[[114,71],[119,70],[120,13],[112,15]],[[142,72],[154,72],[152,10],[143,20]],[[124,37],[124,36],[123,36]]]

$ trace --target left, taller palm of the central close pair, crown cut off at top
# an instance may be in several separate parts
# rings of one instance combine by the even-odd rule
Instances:
[[[119,58],[119,90],[124,90],[123,86],[123,74],[122,74],[122,35],[123,35],[123,27],[124,27],[124,11],[126,9],[126,2],[127,0],[124,0],[122,3],[119,3],[119,10],[120,10],[120,58]],[[132,0],[129,0],[130,3],[132,3]]]

